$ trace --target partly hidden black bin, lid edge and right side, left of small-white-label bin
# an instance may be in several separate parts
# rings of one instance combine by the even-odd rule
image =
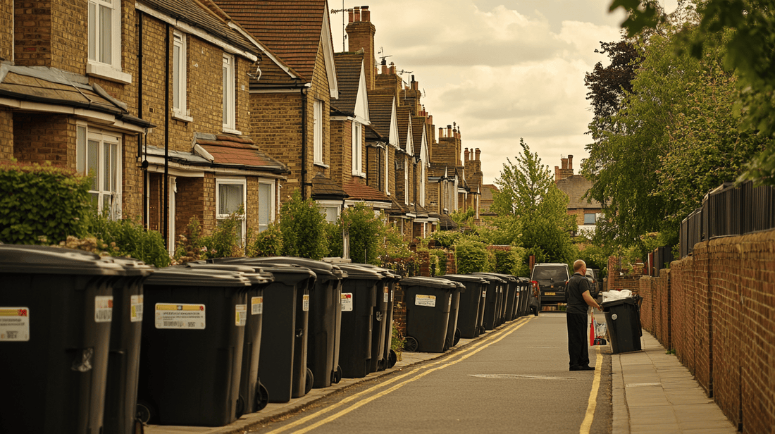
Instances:
[[[306,267],[318,278],[310,292],[307,341],[307,367],[312,371],[312,387],[329,387],[342,379],[339,367],[339,339],[342,324],[342,279],[337,265],[300,257],[256,258],[267,263],[290,263]]]

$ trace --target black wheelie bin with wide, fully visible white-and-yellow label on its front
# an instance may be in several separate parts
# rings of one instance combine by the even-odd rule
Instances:
[[[236,420],[247,293],[242,273],[157,270],[143,288],[138,414],[160,425]]]

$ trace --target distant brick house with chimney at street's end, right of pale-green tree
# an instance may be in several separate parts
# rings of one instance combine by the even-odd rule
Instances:
[[[561,166],[554,167],[554,182],[570,199],[568,214],[576,216],[578,231],[591,235],[603,212],[599,202],[584,198],[592,188],[592,181],[581,175],[574,175],[574,156],[560,159],[560,164]]]

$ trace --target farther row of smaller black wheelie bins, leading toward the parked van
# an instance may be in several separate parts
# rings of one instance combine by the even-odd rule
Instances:
[[[400,282],[406,305],[404,350],[443,353],[460,338],[529,313],[529,279],[509,274],[446,274]]]

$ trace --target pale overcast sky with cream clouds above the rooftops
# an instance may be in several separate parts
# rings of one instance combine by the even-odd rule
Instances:
[[[676,0],[662,0],[670,12]],[[481,150],[484,183],[500,176],[519,139],[554,171],[560,158],[588,157],[592,119],[584,74],[604,55],[600,41],[620,39],[611,0],[329,0],[330,9],[368,5],[374,50],[412,71],[439,126],[460,125],[463,147]],[[342,18],[332,13],[334,50],[343,50]],[[346,44],[345,44],[346,47]],[[377,62],[379,61],[377,57]],[[409,75],[403,74],[409,81]],[[462,156],[461,156],[462,159]]]

